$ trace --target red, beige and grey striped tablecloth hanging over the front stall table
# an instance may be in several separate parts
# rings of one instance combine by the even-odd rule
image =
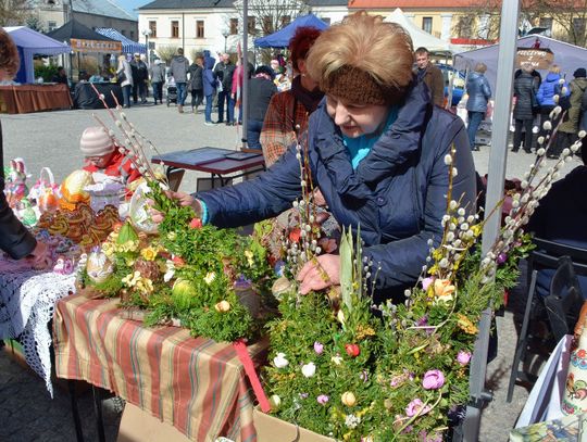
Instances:
[[[257,440],[253,395],[233,345],[177,327],[146,328],[118,316],[118,300],[62,299],[55,306],[55,369],[173,425],[195,441]],[[250,345],[253,362],[266,341]]]

